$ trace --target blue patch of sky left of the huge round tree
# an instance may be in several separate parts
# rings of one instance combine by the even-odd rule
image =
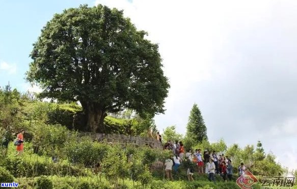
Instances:
[[[12,87],[26,91],[25,72],[29,68],[32,44],[53,14],[80,4],[94,1],[1,1],[0,2],[0,86],[10,82]],[[4,69],[5,68],[5,69]]]

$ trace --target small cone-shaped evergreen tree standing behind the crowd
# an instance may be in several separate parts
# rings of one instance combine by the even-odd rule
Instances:
[[[198,144],[202,140],[207,139],[207,130],[201,111],[199,110],[197,104],[194,104],[190,112],[190,116],[188,117],[186,140],[193,141],[194,144]]]

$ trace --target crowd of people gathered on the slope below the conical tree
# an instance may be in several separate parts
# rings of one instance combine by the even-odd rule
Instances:
[[[170,141],[164,146],[165,150],[172,151],[172,157],[165,161],[165,171],[167,178],[173,180],[172,167],[177,173],[181,163],[184,163],[186,174],[189,181],[193,180],[193,174],[197,171],[198,174],[208,174],[208,180],[215,182],[215,174],[222,176],[225,182],[232,180],[233,166],[232,160],[224,154],[217,154],[217,152],[196,149],[195,152],[187,150],[185,153],[182,141],[176,141],[175,144]],[[238,167],[238,176],[245,174],[246,168],[244,163]]]

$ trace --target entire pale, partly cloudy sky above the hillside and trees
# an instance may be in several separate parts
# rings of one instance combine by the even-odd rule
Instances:
[[[171,88],[160,131],[185,133],[197,103],[210,141],[257,144],[297,169],[297,1],[0,1],[0,86],[24,80],[32,44],[53,14],[103,4],[159,44]]]

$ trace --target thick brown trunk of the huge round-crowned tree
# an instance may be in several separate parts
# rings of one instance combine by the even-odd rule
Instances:
[[[83,109],[87,117],[87,128],[91,132],[104,133],[105,127],[103,124],[104,118],[107,116],[105,110],[97,103],[82,103]]]

